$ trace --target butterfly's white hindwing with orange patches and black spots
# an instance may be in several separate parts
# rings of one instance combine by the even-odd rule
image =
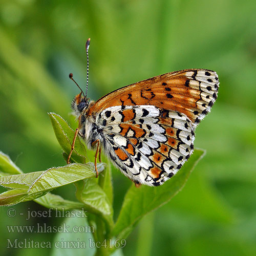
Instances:
[[[112,106],[96,117],[105,153],[131,180],[150,186],[172,177],[193,152],[191,121],[153,105]]]

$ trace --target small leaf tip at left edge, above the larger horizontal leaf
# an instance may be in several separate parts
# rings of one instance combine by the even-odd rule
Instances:
[[[15,165],[9,156],[0,151],[0,176],[2,177],[22,173],[22,170],[20,170],[19,167]]]

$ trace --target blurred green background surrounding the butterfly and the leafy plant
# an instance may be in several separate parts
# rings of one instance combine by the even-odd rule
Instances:
[[[79,90],[68,75],[84,88],[88,37],[94,100],[166,72],[215,70],[219,97],[195,141],[207,154],[184,189],[141,221],[123,254],[256,255],[255,13],[254,0],[2,0],[0,150],[25,173],[65,165],[47,112],[72,122],[70,103]],[[113,176],[118,213],[130,181],[117,170]],[[67,186],[59,193],[69,199],[73,191]],[[44,209],[34,202],[14,208]],[[48,241],[53,233],[12,234],[6,225],[59,220],[28,223],[7,217],[7,209],[0,211],[1,254],[44,251],[8,249],[6,239]]]

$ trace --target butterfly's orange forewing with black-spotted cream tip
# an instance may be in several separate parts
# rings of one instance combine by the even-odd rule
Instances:
[[[214,71],[191,69],[167,73],[102,97],[89,115],[115,105],[155,105],[185,114],[196,126],[214,104],[218,88],[219,79]]]

